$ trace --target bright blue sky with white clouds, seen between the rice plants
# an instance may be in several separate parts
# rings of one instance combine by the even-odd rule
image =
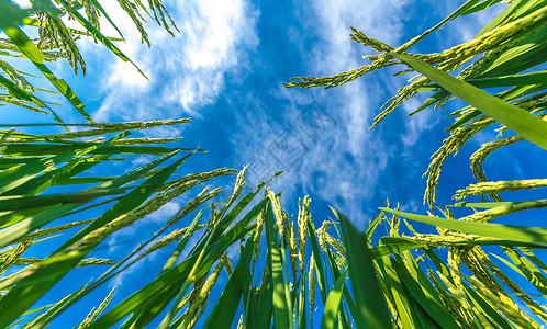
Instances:
[[[174,38],[150,24],[150,48],[139,44],[136,30],[120,15],[114,1],[103,2],[107,10],[118,12],[114,21],[120,22],[127,38],[119,47],[149,80],[101,46],[81,42],[88,64],[86,78],[72,77],[67,65],[52,67],[75,89],[96,121],[192,117],[191,124],[145,134],[183,136],[182,147],[209,150],[193,157],[183,173],[220,167],[241,169],[250,163],[247,184],[256,185],[284,170],[271,189],[283,191],[281,201],[292,214],[298,211],[298,198],[309,194],[316,225],[331,216],[327,205],[333,205],[364,228],[388,196],[405,211],[420,207],[425,212],[422,174],[429,156],[447,136],[443,128],[450,120],[443,120],[442,111],[406,117],[421,104],[424,97],[420,95],[368,131],[380,106],[404,86],[406,77],[392,77],[397,70],[384,69],[331,90],[284,89],[281,82],[295,76],[333,75],[366,64],[361,56],[371,54],[370,49],[349,39],[349,26],[398,46],[464,1],[166,1],[180,34]],[[449,23],[440,34],[411,50],[436,52],[471,38],[500,12],[502,5],[498,7]],[[114,35],[112,29],[105,26],[105,31]],[[454,109],[458,105],[461,103],[457,101],[451,104]],[[44,122],[43,116],[24,110],[10,111],[18,111],[9,115],[10,122]],[[81,121],[69,107],[58,112],[66,122]],[[494,136],[493,129],[480,134],[458,157],[447,161],[437,192],[439,204],[450,203],[455,190],[475,182],[468,169],[469,156]],[[545,156],[539,148],[510,148],[494,154],[485,163],[490,179],[538,178],[545,172]],[[217,184],[231,191],[233,180],[219,180]],[[225,193],[224,198],[228,196]],[[175,213],[183,201],[115,235],[104,248],[112,252],[125,248],[121,243],[131,240],[131,235],[159,226],[161,218]],[[112,303],[142,285],[148,269],[156,261],[163,263],[168,254],[159,252],[119,279],[116,283],[123,284]],[[67,288],[81,284],[66,282]],[[108,290],[97,291],[90,299],[102,299]],[[90,307],[76,308],[74,311],[85,317]],[[75,317],[74,324],[80,320]],[[72,325],[68,318],[59,321]]]

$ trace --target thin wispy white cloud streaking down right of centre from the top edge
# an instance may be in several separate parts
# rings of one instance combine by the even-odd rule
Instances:
[[[332,75],[368,64],[361,59],[361,55],[370,54],[371,50],[356,46],[349,41],[349,25],[392,46],[406,42],[401,37],[403,29],[405,29],[403,20],[405,20],[406,12],[413,9],[411,5],[412,1],[315,2],[314,11],[317,14],[317,29],[322,35],[322,41],[321,45],[312,49],[312,58],[308,60],[315,63],[313,71],[320,72],[320,75]],[[432,4],[432,10],[435,9],[435,5],[437,2]],[[448,41],[445,39],[446,37],[442,38],[440,49],[448,46],[448,43],[461,43],[469,39],[502,9],[466,16],[462,19],[465,24],[461,22],[449,23],[443,33],[455,36]],[[449,13],[450,10],[445,10],[440,15]],[[416,31],[414,34],[417,35],[422,32]],[[381,193],[380,189],[386,188],[378,186],[377,182],[388,162],[399,161],[401,157],[413,159],[413,156],[408,152],[395,154],[393,146],[384,143],[384,139],[393,139],[388,135],[394,132],[382,132],[381,127],[372,132],[367,131],[372,116],[381,111],[377,103],[379,99],[383,101],[394,93],[394,83],[402,80],[402,78],[386,75],[390,71],[392,73],[392,70],[386,71],[338,87],[336,92],[328,92],[324,98],[317,100],[328,106],[330,111],[336,111],[337,117],[341,120],[338,122],[339,131],[335,133],[336,147],[322,148],[319,145],[315,155],[320,156],[316,156],[315,159],[304,160],[302,168],[295,175],[311,177],[310,172],[314,170],[324,171],[324,182],[321,184],[322,186],[314,186],[320,189],[314,192],[327,201],[339,203],[341,209],[355,214],[354,218],[359,223],[366,222],[367,217],[370,218],[375,215],[362,211],[362,202],[370,200],[375,193]],[[314,75],[317,76],[317,73]],[[382,92],[387,90],[388,97],[382,95]],[[336,101],[332,101],[333,99]],[[395,111],[406,113],[414,111],[421,104],[421,100],[423,101],[423,98],[409,100]],[[412,118],[403,118],[404,127],[401,131],[405,133],[401,135],[401,138],[404,150],[420,140],[422,133],[433,128],[442,116],[444,113],[426,111]],[[347,160],[348,156],[350,161]],[[289,180],[293,180],[293,178],[291,177]],[[391,191],[391,188],[388,190]],[[416,196],[421,198],[420,193]]]

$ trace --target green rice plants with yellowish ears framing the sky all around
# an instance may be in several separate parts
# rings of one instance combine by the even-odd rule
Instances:
[[[482,163],[496,149],[525,139],[543,148],[547,146],[546,75],[534,70],[545,61],[546,1],[512,1],[467,43],[435,54],[408,53],[449,21],[488,10],[498,2],[469,0],[439,24],[398,48],[353,29],[355,42],[380,53],[367,57],[372,64],[333,77],[297,78],[287,84],[332,88],[394,65],[406,66],[401,73],[416,71],[418,76],[388,101],[373,126],[418,92],[435,91],[415,113],[432,105],[445,107],[455,97],[469,103],[449,114],[455,117],[455,123],[447,127],[450,136],[434,155],[426,172],[424,202],[440,216],[401,212],[399,206],[393,208],[388,203],[365,231],[359,231],[335,209],[334,219],[313,218],[311,200],[305,196],[298,202],[294,220],[284,211],[280,193],[267,188],[268,182],[243,193],[246,167],[237,173],[226,202],[212,202],[221,190],[201,185],[235,174],[234,170],[221,168],[175,178],[177,168],[200,149],[163,145],[176,141],[172,139],[127,138],[134,129],[187,124],[189,120],[94,123],[66,88],[65,94],[90,121],[77,124],[82,131],[35,135],[7,125],[8,129],[0,131],[0,327],[43,328],[60,314],[70,313],[74,304],[99,286],[172,243],[175,250],[149,283],[116,305],[111,305],[111,292],[81,319],[78,328],[145,328],[152,324],[159,328],[542,327],[547,322],[547,268],[537,250],[547,246],[547,229],[492,220],[545,208],[545,200],[503,202],[499,195],[534,191],[546,185],[545,179],[489,182]],[[47,53],[48,49],[59,48],[75,70],[83,70],[72,43],[54,41],[67,35],[63,26],[55,25],[59,22],[56,18],[63,15],[80,22],[92,37],[123,59],[123,54],[110,46],[110,38],[98,32],[97,15],[108,16],[97,1],[82,1],[83,7],[79,8],[76,1],[36,0],[30,10],[5,0],[0,3],[18,13],[1,21],[0,27],[10,37],[2,44],[4,49],[27,54],[38,68],[45,68],[44,60],[59,56]],[[142,27],[141,1],[120,3]],[[172,26],[161,1],[148,3],[158,23],[166,29]],[[38,19],[29,21],[29,13]],[[108,21],[114,24],[110,18]],[[33,43],[21,35],[16,25],[25,22],[44,29],[40,41]],[[141,27],[143,42],[147,43]],[[29,49],[34,55],[42,54],[40,60],[33,59]],[[469,60],[472,63],[467,64]],[[464,65],[467,67],[462,68]],[[459,68],[462,70],[457,77],[449,75]],[[20,72],[5,65],[2,70],[7,77],[2,76],[0,82],[10,102],[38,111],[47,109],[38,103]],[[42,72],[56,81],[54,86],[59,91],[64,88],[46,69]],[[496,94],[482,90],[491,87],[504,90]],[[436,205],[436,186],[445,159],[495,123],[502,125],[498,139],[484,144],[470,159],[478,183],[455,191],[458,203]],[[49,125],[64,125],[67,129],[75,126]],[[516,135],[504,137],[507,131]],[[89,174],[96,166],[129,162],[141,155],[155,159],[115,177]],[[66,192],[56,189],[59,186],[66,186]],[[122,260],[112,260],[108,254],[101,259],[89,257],[114,232],[196,189],[200,191],[166,218],[160,229],[143,237],[142,243]],[[492,202],[465,201],[470,196],[488,196]],[[455,218],[455,208],[458,214],[469,211],[468,215]],[[97,211],[99,216],[86,217]],[[76,214],[78,220],[67,220]],[[420,232],[413,222],[433,225],[437,234]],[[387,231],[380,231],[380,224],[388,227]],[[79,231],[58,243],[48,257],[26,254],[31,246],[72,228]],[[227,252],[233,246],[238,248],[235,258]],[[537,292],[525,291],[522,280],[502,271],[494,260],[505,263]],[[89,266],[108,270],[55,304],[41,304],[40,298],[55,290],[56,283],[74,269]],[[224,272],[227,282],[219,285]]]

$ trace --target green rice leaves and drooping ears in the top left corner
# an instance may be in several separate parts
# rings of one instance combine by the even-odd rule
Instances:
[[[83,103],[63,79],[58,79],[47,68],[44,61],[64,58],[74,68],[75,73],[78,72],[79,68],[85,75],[86,63],[76,43],[83,35],[93,37],[96,42],[99,41],[120,59],[131,61],[112,43],[116,38],[107,37],[100,32],[99,18],[101,14],[119,33],[120,30],[97,0],[86,0],[81,1],[81,3],[67,0],[34,0],[31,3],[30,9],[21,9],[8,0],[0,1],[0,12],[2,13],[0,29],[8,36],[8,39],[0,39],[0,63],[2,64],[0,68],[8,75],[8,77],[0,76],[0,88],[8,91],[7,94],[0,94],[0,102],[20,105],[36,112],[51,113],[57,122],[63,123],[60,117],[48,105],[32,95],[36,89],[22,78],[25,73],[9,64],[10,58],[25,57],[49,80],[57,90],[56,92],[64,95],[87,121],[92,123],[92,118],[85,111]],[[123,0],[119,1],[119,4],[133,20],[141,32],[143,43],[148,44],[148,46],[150,45],[148,36],[143,27],[145,19],[141,15],[141,11],[148,14],[148,10],[152,10],[153,15],[150,18],[163,25],[171,35],[172,32],[166,18],[170,21],[170,25],[176,29],[161,1],[148,1],[149,9],[139,0]],[[85,14],[80,13],[80,11],[85,11]],[[66,19],[77,21],[83,31],[67,27],[65,24]],[[37,30],[35,32],[38,37],[37,41],[31,39],[18,26],[21,24]],[[120,36],[123,39],[121,33]],[[121,39],[118,38],[118,41]],[[135,64],[133,63],[133,65]],[[144,76],[136,65],[135,68]]]

